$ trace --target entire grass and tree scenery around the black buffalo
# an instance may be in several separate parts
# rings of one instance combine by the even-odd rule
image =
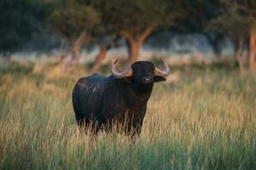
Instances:
[[[171,68],[132,144],[73,113],[116,58]],[[0,170],[255,169],[255,75],[256,0],[0,0]]]

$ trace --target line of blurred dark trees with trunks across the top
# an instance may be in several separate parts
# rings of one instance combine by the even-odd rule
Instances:
[[[203,34],[217,57],[220,42],[230,37],[241,70],[246,61],[256,72],[255,0],[2,0],[0,11],[4,54],[44,27],[70,42],[73,63],[87,43],[97,45],[97,69],[120,38],[125,38],[129,61],[134,62],[154,32],[175,30]]]

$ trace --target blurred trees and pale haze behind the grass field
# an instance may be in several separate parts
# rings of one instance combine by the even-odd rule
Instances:
[[[0,11],[2,67],[162,58],[256,70],[254,0],[2,0]]]

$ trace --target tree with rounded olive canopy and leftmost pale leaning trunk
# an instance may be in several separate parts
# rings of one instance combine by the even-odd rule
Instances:
[[[100,14],[90,2],[80,0],[57,1],[49,19],[52,29],[72,42],[70,52],[74,64],[79,60],[84,43],[90,41],[100,22]]]

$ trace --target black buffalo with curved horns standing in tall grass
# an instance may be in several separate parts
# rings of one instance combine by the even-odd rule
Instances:
[[[169,67],[161,71],[149,61],[137,61],[127,71],[117,71],[113,62],[112,76],[99,74],[82,77],[73,88],[73,109],[80,127],[91,126],[97,132],[111,129],[118,122],[127,135],[139,134],[154,82],[166,81]]]

